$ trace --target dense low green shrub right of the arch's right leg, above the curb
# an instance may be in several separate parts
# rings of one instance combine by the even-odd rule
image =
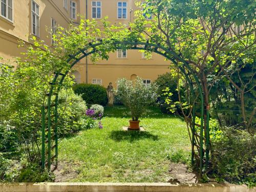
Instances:
[[[221,131],[220,138],[211,140],[214,176],[218,180],[255,186],[255,133],[241,127],[223,127]]]

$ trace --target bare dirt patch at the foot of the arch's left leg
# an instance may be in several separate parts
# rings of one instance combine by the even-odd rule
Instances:
[[[59,161],[57,169],[53,172],[55,174],[55,182],[68,182],[76,178],[79,173],[72,167],[77,166],[79,166],[79,163]]]

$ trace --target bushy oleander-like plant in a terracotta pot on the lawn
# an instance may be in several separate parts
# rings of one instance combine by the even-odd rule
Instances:
[[[157,87],[155,84],[145,86],[143,80],[137,77],[134,81],[125,78],[118,79],[117,97],[130,109],[132,119],[129,129],[140,129],[139,118],[146,106],[154,103],[157,99]]]

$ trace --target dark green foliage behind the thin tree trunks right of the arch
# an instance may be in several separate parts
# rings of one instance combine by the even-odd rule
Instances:
[[[246,120],[249,122],[251,117],[250,124],[253,126],[256,123],[256,118],[252,115],[256,105],[256,78],[253,78],[251,74],[255,73],[256,66],[254,63],[245,66],[237,64],[238,63],[232,63],[230,65],[231,69],[240,67],[236,72],[231,72],[231,78],[239,87],[242,87],[243,85],[245,86],[246,84],[246,89],[243,93],[244,108],[247,112]],[[237,125],[243,122],[242,111],[240,108],[241,97],[241,93],[227,80],[225,75],[212,86],[210,98],[212,106],[214,107],[213,115],[219,120],[220,125]]]

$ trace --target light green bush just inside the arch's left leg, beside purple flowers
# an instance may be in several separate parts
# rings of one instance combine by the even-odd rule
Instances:
[[[87,110],[86,102],[72,89],[59,93],[58,132],[60,136],[70,135],[82,130],[82,117]]]

